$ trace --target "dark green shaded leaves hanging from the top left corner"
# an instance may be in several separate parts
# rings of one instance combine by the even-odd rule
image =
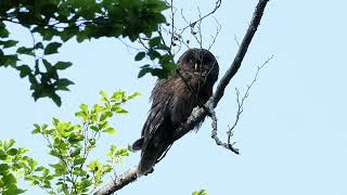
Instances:
[[[0,1],[0,66],[12,67],[20,77],[27,77],[34,100],[50,98],[56,105],[62,101],[57,91],[68,91],[74,82],[61,78],[59,72],[72,63],[49,62],[48,57],[59,52],[64,42],[76,37],[77,42],[101,37],[139,40],[142,35],[147,47],[134,58],[145,56],[162,65],[154,68],[141,67],[139,77],[151,73],[159,78],[167,77],[175,69],[170,48],[159,37],[153,36],[158,26],[166,23],[162,12],[168,9],[163,0],[4,0]],[[18,41],[10,39],[8,24],[28,29],[33,46],[17,47]],[[33,56],[34,63],[21,61]]]

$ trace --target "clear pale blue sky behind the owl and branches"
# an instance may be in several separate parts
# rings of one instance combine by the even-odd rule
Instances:
[[[211,52],[218,56],[220,76],[237,49],[234,37],[242,39],[256,3],[224,0],[215,14],[222,29]],[[214,1],[177,2],[178,8],[183,4],[196,14],[196,5],[204,11]],[[236,112],[234,88],[244,91],[257,65],[275,56],[261,70],[235,129],[233,140],[241,155],[214,143],[207,119],[197,133],[175,143],[154,173],[117,194],[183,195],[200,188],[210,195],[347,194],[346,8],[345,0],[271,0],[241,69],[217,107],[219,132],[224,135]],[[16,38],[29,36],[25,29],[12,29]],[[215,30],[207,26],[203,34],[208,37]],[[29,44],[30,39],[23,42]],[[99,142],[103,150],[92,158],[101,158],[112,143],[132,143],[140,135],[155,83],[151,76],[137,78],[141,64],[133,62],[134,54],[115,39],[64,44],[53,60],[74,63],[62,75],[76,84],[62,93],[62,107],[50,100],[35,103],[28,81],[15,70],[0,68],[0,139],[13,138],[36,159],[49,159],[44,140],[30,134],[34,122],[47,123],[53,116],[72,120],[79,104],[98,101],[101,89],[108,93],[124,89],[140,91],[142,96],[129,102],[129,115],[115,117],[119,132],[103,138]],[[137,165],[139,155],[131,154],[117,173]],[[44,193],[35,188],[26,194]]]

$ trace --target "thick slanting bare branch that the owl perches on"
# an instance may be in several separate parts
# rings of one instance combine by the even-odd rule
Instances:
[[[220,101],[220,99],[224,94],[226,87],[229,84],[230,80],[234,77],[237,73],[242,61],[247,52],[249,43],[257,31],[257,28],[260,24],[261,16],[264,14],[264,10],[267,5],[269,0],[259,0],[255,12],[253,13],[253,18],[250,25],[248,26],[247,32],[243,38],[243,41],[240,44],[239,51],[234,57],[234,61],[230,65],[230,68],[227,70],[224,76],[218,83],[217,90],[215,94],[208,100],[205,104],[205,107],[215,108]],[[201,122],[207,115],[207,112],[204,108],[194,108],[191,116],[188,118],[187,122],[184,122],[179,129],[176,130],[175,140],[182,138],[187,134],[191,129],[193,129],[198,122]],[[104,195],[104,194],[112,194],[117,190],[124,187],[125,185],[133,182],[137,180],[137,167],[131,168],[127,172],[123,173],[121,176],[117,177],[114,181],[103,186],[99,190],[95,195]]]

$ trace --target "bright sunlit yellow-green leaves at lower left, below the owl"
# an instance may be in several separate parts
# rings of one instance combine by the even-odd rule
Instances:
[[[75,114],[81,123],[73,125],[56,118],[52,125],[37,125],[33,134],[41,134],[48,142],[49,155],[56,159],[47,166],[38,166],[38,161],[23,156],[26,148],[13,148],[14,141],[0,142],[0,192],[18,194],[25,192],[17,188],[18,174],[31,185],[38,185],[48,194],[89,194],[102,184],[103,177],[113,171],[123,157],[129,155],[128,148],[112,145],[106,154],[107,160],[89,159],[102,134],[113,134],[116,129],[110,126],[114,115],[128,112],[123,104],[139,95],[134,92],[127,95],[125,91],[116,91],[111,95],[100,92],[102,104],[91,108],[86,104],[79,106]]]

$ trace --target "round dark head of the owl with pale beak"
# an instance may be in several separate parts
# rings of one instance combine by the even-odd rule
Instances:
[[[213,81],[218,78],[218,63],[215,55],[206,49],[190,49],[179,58],[179,69],[208,77]]]

